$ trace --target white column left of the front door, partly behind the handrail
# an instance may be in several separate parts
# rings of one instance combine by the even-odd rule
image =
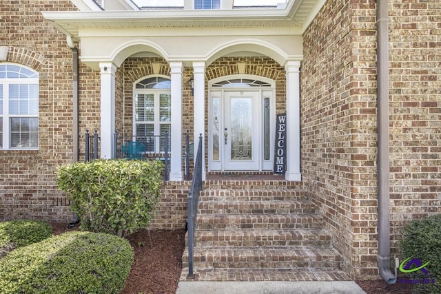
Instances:
[[[199,134],[202,134],[202,180],[205,172],[205,62],[193,62],[194,74],[194,156],[198,150]]]

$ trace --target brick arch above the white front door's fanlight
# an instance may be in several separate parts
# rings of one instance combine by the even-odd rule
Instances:
[[[225,63],[231,64],[225,65]],[[243,65],[245,65],[245,67],[240,72],[239,66],[242,67]],[[239,60],[222,58],[212,63],[206,71],[207,80],[233,74],[263,76],[276,81],[280,74],[285,74],[285,69],[269,57],[263,57],[260,60],[256,60],[256,58]]]

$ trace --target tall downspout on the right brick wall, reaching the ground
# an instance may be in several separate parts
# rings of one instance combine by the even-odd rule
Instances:
[[[378,176],[378,270],[387,284],[391,273],[389,233],[389,52],[387,0],[377,0],[377,176]],[[397,263],[397,262],[396,262]]]

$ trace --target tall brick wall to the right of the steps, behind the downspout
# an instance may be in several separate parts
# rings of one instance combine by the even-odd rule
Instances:
[[[389,1],[392,253],[404,222],[441,212],[441,10],[429,2]],[[378,278],[375,22],[376,1],[327,1],[301,68],[305,187],[364,279]]]

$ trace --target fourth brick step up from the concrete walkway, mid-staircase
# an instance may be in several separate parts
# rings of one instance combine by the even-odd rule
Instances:
[[[199,214],[196,231],[204,229],[322,229],[322,218],[314,214]]]

